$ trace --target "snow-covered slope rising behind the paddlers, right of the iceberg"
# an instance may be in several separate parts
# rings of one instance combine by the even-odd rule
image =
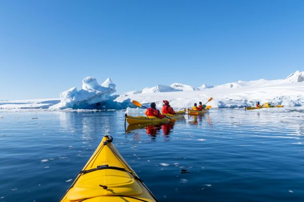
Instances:
[[[265,80],[258,79],[249,82],[238,82],[215,86],[213,88],[201,88],[200,91],[179,92],[151,92],[130,95],[121,95],[116,99],[122,102],[125,99],[136,100],[148,106],[156,102],[157,107],[163,105],[163,100],[168,100],[174,108],[191,107],[196,102],[206,102],[210,97],[213,100],[208,103],[212,108],[236,108],[252,106],[257,101],[270,102],[285,106],[304,106],[304,72],[296,71],[286,79]]]

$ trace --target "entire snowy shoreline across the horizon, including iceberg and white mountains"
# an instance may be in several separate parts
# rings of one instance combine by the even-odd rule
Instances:
[[[108,78],[98,85],[93,77],[83,80],[83,88],[71,88],[60,94],[60,99],[35,99],[0,101],[0,109],[126,109],[135,107],[131,100],[137,100],[148,106],[156,102],[162,106],[168,100],[174,108],[191,107],[196,102],[206,102],[212,108],[242,108],[255,102],[270,102],[284,106],[304,106],[304,72],[296,71],[285,79],[239,81],[219,86],[203,85],[196,88],[174,83],[171,86],[158,85],[143,90],[131,91],[121,95],[116,92],[116,85]]]

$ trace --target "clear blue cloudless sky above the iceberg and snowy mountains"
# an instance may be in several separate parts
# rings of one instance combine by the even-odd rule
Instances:
[[[304,1],[0,0],[0,100],[56,98],[86,76],[118,93],[304,70]]]

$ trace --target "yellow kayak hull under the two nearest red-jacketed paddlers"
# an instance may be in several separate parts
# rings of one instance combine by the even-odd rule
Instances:
[[[155,122],[168,122],[171,120],[176,120],[183,117],[185,114],[185,110],[177,111],[176,114],[168,114],[164,113],[165,116],[171,118],[158,118],[155,116],[131,116],[126,115],[126,120],[128,124],[145,124],[145,123],[155,123]]]

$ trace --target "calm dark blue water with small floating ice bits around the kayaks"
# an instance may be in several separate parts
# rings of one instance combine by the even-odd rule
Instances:
[[[0,201],[58,201],[103,135],[160,201],[304,201],[301,110],[210,110],[127,133],[123,111],[0,117]]]

